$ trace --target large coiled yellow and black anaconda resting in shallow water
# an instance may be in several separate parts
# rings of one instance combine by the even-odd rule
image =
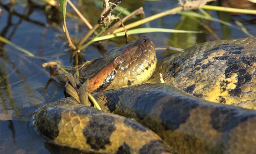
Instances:
[[[55,144],[90,153],[256,153],[255,66],[256,38],[157,62],[142,37],[83,68],[80,81],[89,79],[103,111],[68,97],[39,108],[34,124]]]

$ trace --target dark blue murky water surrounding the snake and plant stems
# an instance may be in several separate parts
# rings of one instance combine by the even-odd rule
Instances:
[[[213,4],[219,3],[217,1]],[[86,0],[74,1],[74,4],[78,6],[90,23],[96,23],[100,13],[98,3]],[[178,6],[178,2],[130,0],[123,1],[121,6],[129,11],[143,7],[145,16],[148,17],[174,8]],[[37,108],[64,98],[64,87],[56,83],[51,83],[48,90],[44,91],[50,75],[49,70],[42,67],[43,63],[51,60],[59,60],[65,66],[72,64],[65,40],[57,37],[63,35],[60,13],[41,1],[17,0],[13,4],[13,1],[2,0],[0,9],[2,12],[0,14],[0,36],[35,55],[35,57],[27,56],[20,50],[0,42],[0,153],[74,152],[74,149],[61,148],[48,142],[46,138],[35,131],[32,125],[32,114]],[[75,14],[70,8],[68,10]],[[140,36],[151,37],[157,46],[171,45],[178,48],[188,48],[219,38],[248,37],[242,30],[237,29],[236,20],[242,22],[247,31],[256,36],[256,20],[253,15],[207,12],[233,26],[190,16],[168,15],[144,24],[143,27],[195,30],[203,31],[203,33],[147,33]],[[88,30],[82,21],[74,18],[67,18],[67,25],[70,34],[79,38]],[[136,37],[139,35],[131,37],[131,39]],[[90,60],[100,56],[105,50],[121,46],[124,43],[125,39],[120,37],[118,40],[103,42],[103,50],[98,50],[96,45],[92,45],[83,52],[83,56]],[[165,55],[167,52],[157,52],[158,58]],[[75,152],[79,153],[79,151]]]

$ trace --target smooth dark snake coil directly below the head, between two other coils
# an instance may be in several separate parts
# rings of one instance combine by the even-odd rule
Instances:
[[[160,83],[94,97],[102,109],[134,118],[180,153],[256,153],[255,110],[207,102]]]

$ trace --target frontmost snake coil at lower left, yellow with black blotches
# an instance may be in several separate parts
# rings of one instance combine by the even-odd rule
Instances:
[[[55,144],[93,153],[175,153],[139,123],[66,98],[41,107],[34,124]]]

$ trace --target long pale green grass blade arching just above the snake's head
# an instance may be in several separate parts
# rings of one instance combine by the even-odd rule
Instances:
[[[151,32],[167,32],[167,33],[201,33],[201,31],[187,31],[187,30],[176,30],[176,29],[161,29],[161,28],[139,28],[139,29],[131,29],[128,30],[128,35],[131,34],[140,34],[140,33],[151,33]],[[105,36],[97,37],[93,40],[93,42],[100,41],[100,40],[106,40],[111,39],[118,36],[124,36],[125,33],[119,32],[116,34],[110,34]]]

